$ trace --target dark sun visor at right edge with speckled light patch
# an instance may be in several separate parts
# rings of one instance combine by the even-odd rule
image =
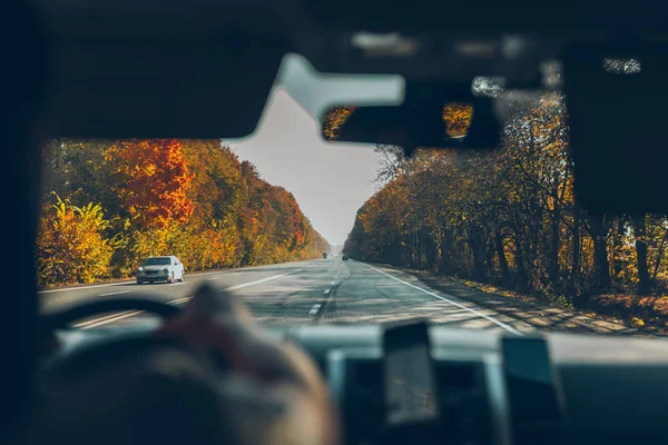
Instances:
[[[562,60],[580,205],[668,212],[668,46],[578,43]]]

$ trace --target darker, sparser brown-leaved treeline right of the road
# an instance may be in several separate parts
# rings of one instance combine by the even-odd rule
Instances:
[[[384,186],[358,210],[344,251],[570,303],[664,290],[668,219],[581,209],[564,116],[562,97],[541,97],[509,119],[493,152],[405,160],[377,147]]]

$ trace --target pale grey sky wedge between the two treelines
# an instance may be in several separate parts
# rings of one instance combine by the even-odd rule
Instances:
[[[343,245],[357,209],[375,191],[379,167],[369,146],[326,144],[315,119],[285,89],[276,89],[257,131],[227,141],[268,182],[291,191],[315,229]]]

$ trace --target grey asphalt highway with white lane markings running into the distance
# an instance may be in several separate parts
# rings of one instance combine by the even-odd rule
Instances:
[[[514,335],[546,328],[532,322],[536,317],[530,312],[480,306],[431,288],[413,275],[343,261],[341,257],[190,274],[185,283],[114,283],[45,290],[40,296],[43,312],[95,298],[130,296],[134,290],[183,306],[204,283],[239,296],[264,325],[395,324],[428,318],[449,327],[500,329]],[[138,322],[157,320],[146,314],[125,312],[80,320],[76,326],[91,329]]]

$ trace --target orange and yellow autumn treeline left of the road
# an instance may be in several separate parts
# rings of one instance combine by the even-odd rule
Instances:
[[[40,286],[129,277],[150,255],[187,270],[316,258],[328,243],[294,196],[219,140],[51,140]]]

